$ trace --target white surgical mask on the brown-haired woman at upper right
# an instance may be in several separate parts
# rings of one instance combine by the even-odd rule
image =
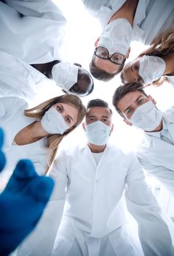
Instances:
[[[140,58],[139,75],[145,84],[154,82],[165,72],[165,60],[157,56],[143,56]]]

